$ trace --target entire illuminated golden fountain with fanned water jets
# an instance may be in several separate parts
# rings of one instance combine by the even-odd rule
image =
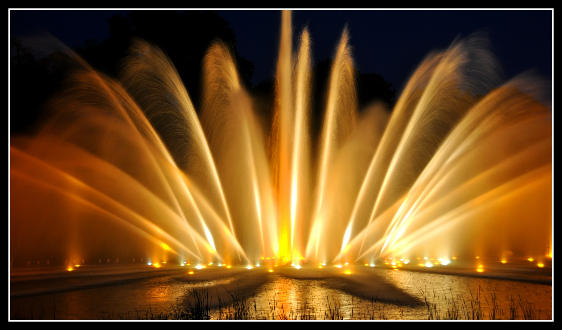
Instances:
[[[429,54],[390,115],[359,113],[344,29],[316,141],[311,36],[293,52],[292,35],[284,12],[269,137],[221,42],[201,109],[155,45],[137,40],[119,81],[75,57],[37,134],[11,140],[12,264],[546,258],[552,113],[532,77],[500,83],[473,36]]]

